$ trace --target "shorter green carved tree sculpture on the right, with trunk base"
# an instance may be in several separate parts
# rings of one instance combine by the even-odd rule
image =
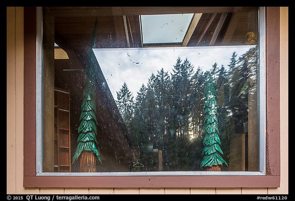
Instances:
[[[221,171],[220,165],[227,163],[221,157],[223,154],[220,148],[220,138],[218,130],[218,118],[217,118],[217,101],[216,90],[213,83],[213,79],[210,78],[205,87],[205,104],[204,104],[204,129],[205,137],[203,141],[204,154],[201,167],[207,167],[208,171]]]

